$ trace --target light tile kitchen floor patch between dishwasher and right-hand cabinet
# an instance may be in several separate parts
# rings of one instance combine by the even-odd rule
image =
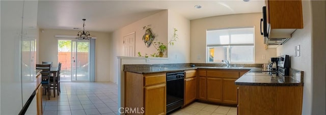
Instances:
[[[216,115],[236,115],[236,107],[223,106],[223,105],[213,105],[201,102],[194,102],[172,114],[216,114]]]

